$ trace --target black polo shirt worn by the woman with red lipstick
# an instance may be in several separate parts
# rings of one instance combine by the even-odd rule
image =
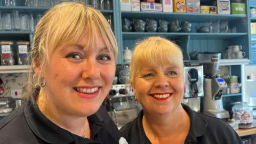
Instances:
[[[225,121],[219,118],[196,113],[187,105],[182,105],[190,116],[190,130],[185,140],[186,144],[241,144],[242,140],[235,130]],[[140,111],[134,121],[121,128],[122,136],[128,143],[150,144],[142,127],[143,110]]]

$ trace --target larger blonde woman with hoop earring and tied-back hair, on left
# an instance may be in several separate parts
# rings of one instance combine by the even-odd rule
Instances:
[[[0,143],[118,143],[102,102],[115,76],[117,43],[89,5],[61,3],[36,26],[26,105],[0,123]]]

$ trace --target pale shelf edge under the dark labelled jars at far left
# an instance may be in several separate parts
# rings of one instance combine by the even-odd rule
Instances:
[[[6,73],[28,73],[29,66],[0,66],[0,74]]]

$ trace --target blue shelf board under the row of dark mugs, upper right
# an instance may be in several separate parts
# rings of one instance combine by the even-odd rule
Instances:
[[[148,36],[165,36],[168,38],[180,38],[190,36],[190,39],[228,39],[246,36],[247,33],[151,33],[151,32],[123,32],[123,39],[137,39]]]

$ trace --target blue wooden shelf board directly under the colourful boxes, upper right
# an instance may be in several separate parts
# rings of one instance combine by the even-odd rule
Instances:
[[[239,20],[246,18],[246,15],[236,14],[207,14],[207,13],[173,13],[173,12],[146,12],[146,11],[122,11],[122,17],[127,19],[178,19],[189,22],[205,22],[210,20]]]

